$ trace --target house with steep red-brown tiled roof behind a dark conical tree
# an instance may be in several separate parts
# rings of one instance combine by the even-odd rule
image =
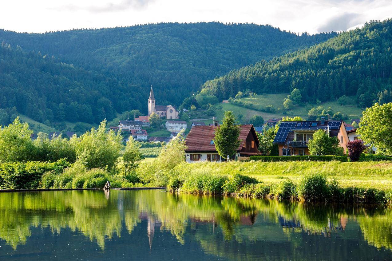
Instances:
[[[214,138],[215,130],[219,126],[194,126],[189,131],[185,139],[185,160],[189,163],[200,161],[225,161],[225,158],[219,156],[216,151]],[[240,125],[240,136],[238,140],[241,141],[238,147],[235,159],[238,157],[249,157],[257,155],[259,146],[259,139],[253,125]]]

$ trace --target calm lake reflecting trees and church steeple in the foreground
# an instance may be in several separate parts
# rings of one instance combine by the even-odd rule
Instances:
[[[391,260],[392,210],[163,190],[0,193],[0,260]]]

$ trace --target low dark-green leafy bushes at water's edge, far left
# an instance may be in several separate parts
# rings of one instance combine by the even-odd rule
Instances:
[[[64,159],[55,162],[27,161],[0,164],[0,188],[28,189],[38,188],[45,172],[59,174],[69,166]]]

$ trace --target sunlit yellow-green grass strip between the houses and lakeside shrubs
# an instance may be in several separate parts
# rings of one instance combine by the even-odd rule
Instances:
[[[289,178],[298,182],[303,176],[320,173],[336,178],[343,187],[392,189],[392,162],[229,162],[184,163],[181,169],[189,174],[231,175],[240,173],[266,183],[280,183]],[[191,165],[189,165],[191,164]]]

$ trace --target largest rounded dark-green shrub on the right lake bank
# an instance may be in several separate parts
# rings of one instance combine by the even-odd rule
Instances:
[[[327,198],[327,177],[321,174],[305,176],[298,184],[298,197],[303,200],[321,201]]]

